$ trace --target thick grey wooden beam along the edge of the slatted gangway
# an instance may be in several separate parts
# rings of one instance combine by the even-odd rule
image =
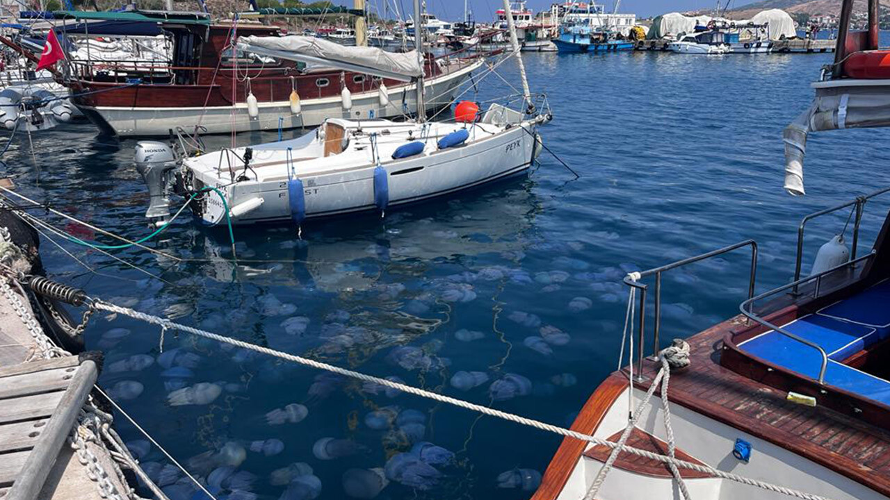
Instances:
[[[49,372],[42,372],[49,373]],[[56,458],[71,428],[74,426],[80,408],[96,383],[98,370],[93,361],[85,361],[77,368],[77,373],[59,402],[59,407],[50,418],[43,432],[31,450],[22,472],[12,484],[5,500],[36,500],[44,481],[53,468]]]

